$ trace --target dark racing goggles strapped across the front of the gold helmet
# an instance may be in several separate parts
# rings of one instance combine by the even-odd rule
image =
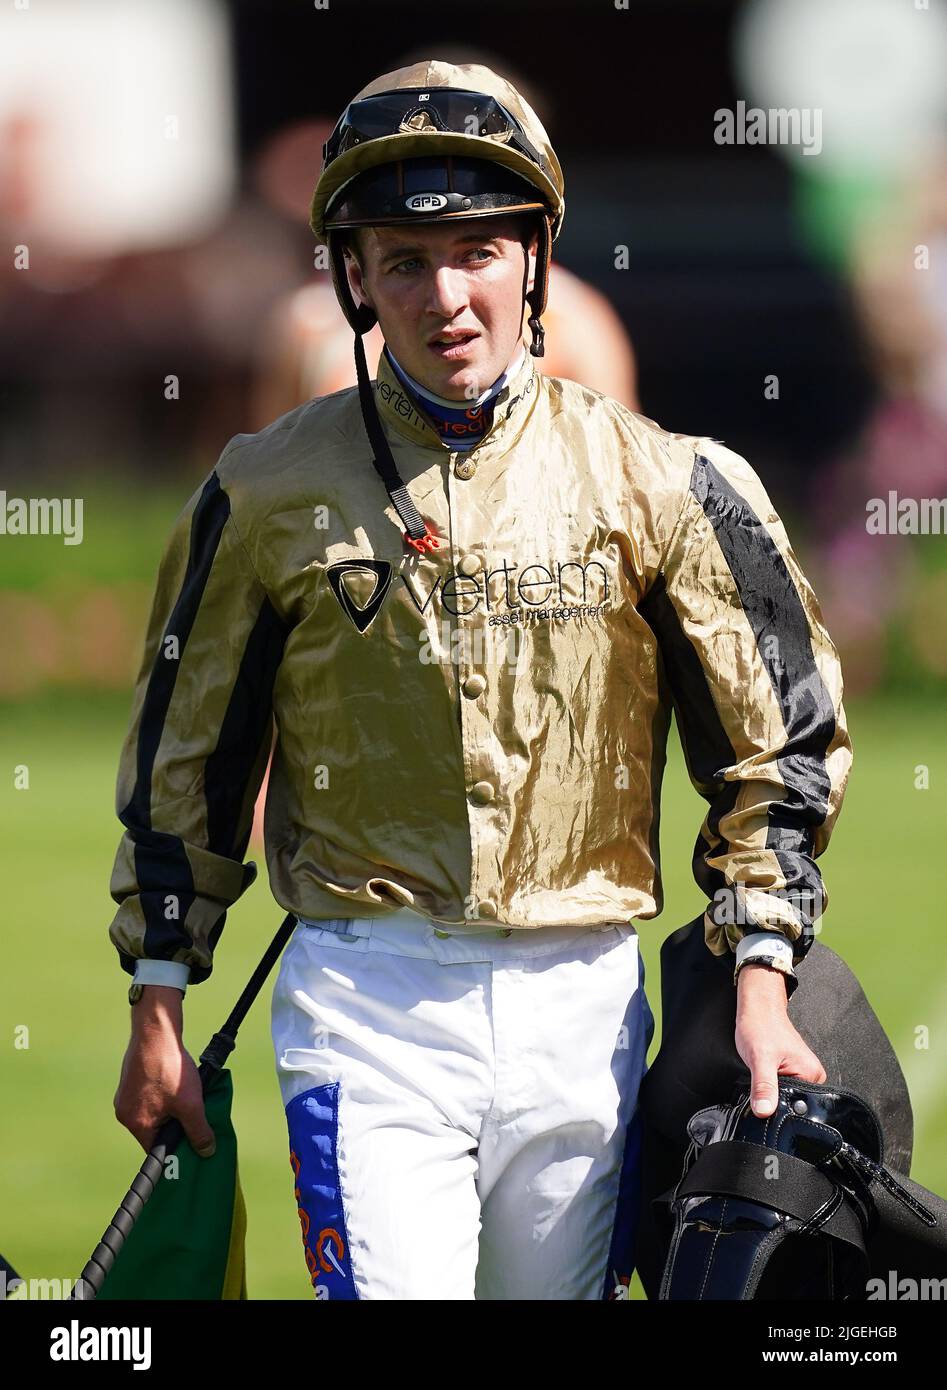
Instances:
[[[350,101],[323,146],[325,168],[341,154],[387,135],[441,131],[478,135],[508,145],[545,172],[545,160],[515,115],[485,92],[458,88],[400,88]]]

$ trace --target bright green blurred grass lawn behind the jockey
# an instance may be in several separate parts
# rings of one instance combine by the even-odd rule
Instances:
[[[171,520],[196,481],[139,488],[133,498],[75,480],[46,484],[47,496],[85,496],[83,543],[7,538],[0,592],[44,595],[54,603],[76,584],[139,582],[150,594]],[[128,653],[121,694],[46,688],[0,703],[0,1252],[25,1277],[78,1275],[142,1156],[111,1108],[128,1040],[128,976],[107,934],[121,830],[114,783],[136,657]],[[17,660],[17,652],[7,649],[6,659]],[[918,691],[852,702],[847,710],[855,763],[820,860],[830,895],[822,940],[862,981],[904,1068],[915,1108],[912,1176],[947,1193],[943,702]],[[28,791],[14,790],[19,764],[29,769]],[[918,764],[929,767],[926,791],[915,788]],[[661,1041],[661,942],[704,903],[690,873],[702,815],[672,733],[662,821],[666,905],[659,919],[640,923],[647,992],[658,1016],[652,1056]],[[263,872],[229,915],[211,979],[188,992],[192,1054],[228,1013],[281,919]],[[232,1058],[249,1294],[307,1300],[268,997],[270,986]],[[21,1024],[29,1029],[26,1049],[14,1047]],[[919,1029],[929,1033],[928,1048],[915,1045]]]

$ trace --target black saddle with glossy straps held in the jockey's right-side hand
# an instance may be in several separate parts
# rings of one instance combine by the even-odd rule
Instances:
[[[662,1044],[644,1077],[637,1269],[648,1298],[871,1297],[869,1280],[947,1276],[947,1202],[908,1176],[904,1073],[844,960],[814,942],[790,1019],[826,1069],[780,1077],[750,1109],[734,1041],[733,956],[704,919],[661,952]]]

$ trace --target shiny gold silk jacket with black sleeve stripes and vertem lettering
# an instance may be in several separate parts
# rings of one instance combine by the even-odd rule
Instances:
[[[819,605],[750,464],[524,354],[467,453],[384,353],[406,553],[355,388],[236,435],[161,560],[117,809],[121,962],[206,979],[273,746],[266,858],[306,919],[656,916],[676,709],[706,944],[798,960],[851,763]]]

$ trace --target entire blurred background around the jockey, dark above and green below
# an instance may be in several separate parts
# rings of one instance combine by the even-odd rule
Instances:
[[[866,525],[872,499],[947,496],[943,10],[21,0],[0,14],[0,513],[83,503],[81,543],[0,534],[0,1250],[28,1277],[78,1273],[140,1158],[111,1111],[108,877],[161,548],[234,434],[353,384],[309,200],[345,103],[421,57],[503,72],[559,153],[540,366],[722,439],[787,525],[855,745],[822,940],[896,1045],[912,1176],[947,1193],[947,542]],[[818,147],[720,142],[738,103],[818,110]],[[672,735],[666,906],[640,924],[656,1013],[661,942],[702,906],[702,815]],[[280,917],[264,878],[231,913],[192,1052]],[[249,1293],[309,1298],[267,1009],[268,988],[234,1061]]]

